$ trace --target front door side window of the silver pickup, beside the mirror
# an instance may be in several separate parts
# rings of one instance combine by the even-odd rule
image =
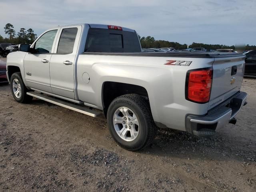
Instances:
[[[58,30],[48,31],[43,34],[35,43],[34,49],[37,53],[51,53],[54,38]]]

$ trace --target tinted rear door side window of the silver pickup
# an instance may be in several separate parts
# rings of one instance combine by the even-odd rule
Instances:
[[[77,28],[66,28],[62,30],[57,53],[72,53],[76,40]]]

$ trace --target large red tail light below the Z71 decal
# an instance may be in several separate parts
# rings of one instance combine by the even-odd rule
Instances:
[[[189,70],[186,75],[186,100],[207,103],[212,89],[212,67]]]

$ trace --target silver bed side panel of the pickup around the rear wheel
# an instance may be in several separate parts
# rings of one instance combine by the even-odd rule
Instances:
[[[167,60],[192,61],[190,66],[164,65]],[[78,97],[102,109],[102,85],[106,81],[144,87],[154,121],[169,128],[185,130],[188,114],[206,114],[208,104],[185,99],[186,72],[212,66],[213,58],[171,58],[150,56],[108,56],[80,54],[77,62]],[[90,76],[86,84],[82,74]]]

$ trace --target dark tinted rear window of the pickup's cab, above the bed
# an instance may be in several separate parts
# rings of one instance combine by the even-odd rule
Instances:
[[[90,28],[85,52],[141,52],[135,32]]]

